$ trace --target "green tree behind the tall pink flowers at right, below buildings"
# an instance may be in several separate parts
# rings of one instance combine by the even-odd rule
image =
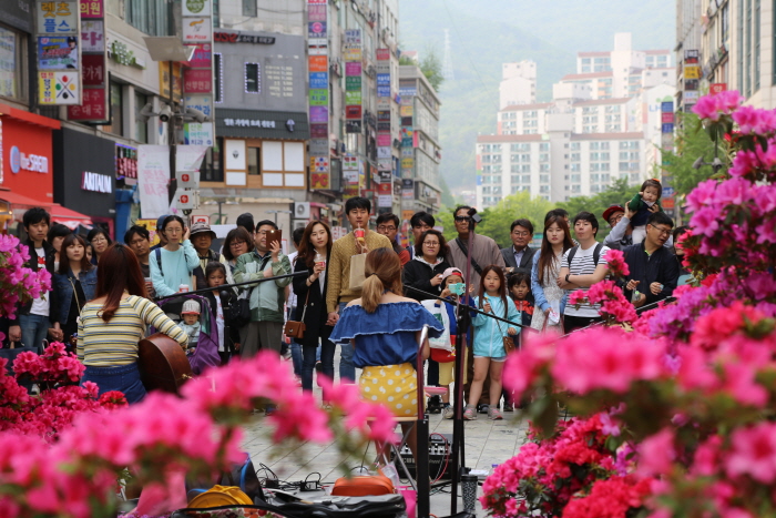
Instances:
[[[693,164],[698,158],[703,162],[714,159],[714,141],[703,131],[701,121],[694,113],[677,113],[676,152],[663,151],[663,169],[672,175],[672,186],[678,196],[687,195],[695,186],[714,174],[711,165],[698,169]],[[725,169],[729,166],[726,140],[718,142],[717,155]]]

